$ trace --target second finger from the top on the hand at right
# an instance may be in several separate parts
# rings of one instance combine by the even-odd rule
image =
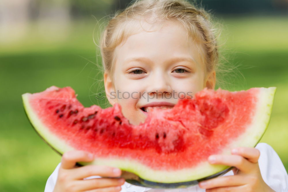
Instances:
[[[209,163],[237,167],[240,171],[248,173],[253,169],[254,164],[239,155],[211,155]]]

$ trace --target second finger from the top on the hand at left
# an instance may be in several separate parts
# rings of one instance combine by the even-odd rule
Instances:
[[[119,168],[102,165],[86,165],[69,170],[69,174],[73,175],[74,179],[83,179],[94,175],[101,177],[120,177],[121,170]]]

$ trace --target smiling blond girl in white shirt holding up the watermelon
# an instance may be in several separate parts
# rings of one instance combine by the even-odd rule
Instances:
[[[145,120],[147,106],[173,107],[177,103],[173,93],[194,94],[204,87],[215,87],[218,50],[214,29],[207,13],[187,1],[135,2],[109,21],[101,40],[101,54],[107,99],[112,105],[119,103],[133,124]],[[112,92],[120,94],[111,97]],[[164,191],[134,186],[123,178],[107,178],[119,177],[118,168],[75,167],[77,161],[92,160],[93,155],[83,151],[63,154],[48,178],[45,192]],[[209,162],[237,168],[197,186],[165,191],[288,191],[286,170],[268,144],[235,148],[231,155],[210,156]]]

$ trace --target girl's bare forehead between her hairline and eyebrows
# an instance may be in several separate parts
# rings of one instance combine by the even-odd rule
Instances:
[[[175,20],[155,24],[143,22],[143,25],[134,26],[140,32],[128,36],[125,41],[115,48],[115,57],[119,61],[127,60],[129,57],[168,57],[184,56],[192,57],[202,63],[204,53],[202,46],[193,41],[187,34],[185,27]],[[115,59],[116,59],[115,58]]]

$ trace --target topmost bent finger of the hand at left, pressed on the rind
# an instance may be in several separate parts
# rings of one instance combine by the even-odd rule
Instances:
[[[61,168],[71,169],[78,161],[90,162],[93,159],[93,155],[86,151],[68,151],[62,155]]]

